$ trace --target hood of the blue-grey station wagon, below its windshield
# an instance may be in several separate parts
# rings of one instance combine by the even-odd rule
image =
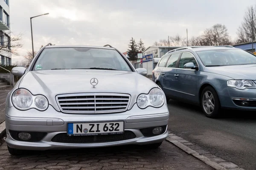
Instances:
[[[204,71],[221,74],[233,79],[256,80],[256,65],[230,65],[219,67],[205,67]]]

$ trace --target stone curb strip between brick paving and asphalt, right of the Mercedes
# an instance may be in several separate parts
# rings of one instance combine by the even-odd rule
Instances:
[[[238,165],[233,164],[232,162],[227,162],[224,159],[218,158],[210,154],[208,151],[203,150],[201,147],[196,146],[182,139],[181,137],[176,136],[173,133],[169,133],[166,140],[171,142],[175,146],[179,147],[181,150],[188,153],[189,155],[192,155],[195,158],[203,161],[205,164],[209,165],[215,170],[244,170],[242,168],[239,168]]]

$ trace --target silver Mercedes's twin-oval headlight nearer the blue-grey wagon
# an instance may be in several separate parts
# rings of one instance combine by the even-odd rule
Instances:
[[[160,108],[165,101],[165,95],[159,88],[153,88],[148,94],[140,94],[137,98],[137,105],[139,108],[146,108],[152,106]]]

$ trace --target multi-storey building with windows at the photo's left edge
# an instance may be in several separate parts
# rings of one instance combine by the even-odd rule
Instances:
[[[10,8],[9,0],[0,0],[0,45],[8,46],[9,49],[11,38],[10,33]],[[0,52],[0,65],[11,65],[12,53]]]

